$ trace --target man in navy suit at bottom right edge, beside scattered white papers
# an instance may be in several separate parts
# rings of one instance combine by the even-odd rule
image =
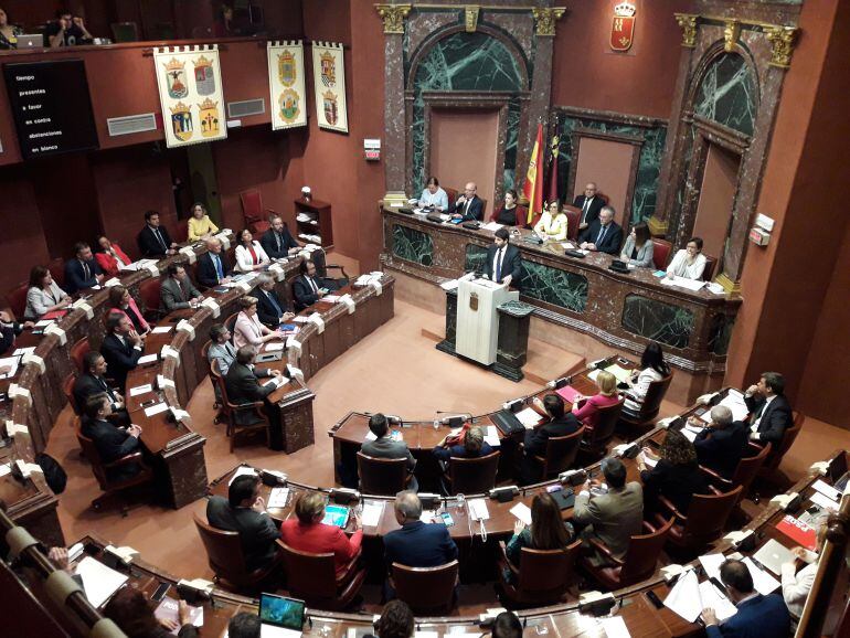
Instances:
[[[787,638],[790,635],[790,614],[782,596],[763,596],[756,592],[745,563],[724,561],[720,566],[720,579],[737,613],[721,625],[714,609],[704,608],[702,619],[708,638]]]

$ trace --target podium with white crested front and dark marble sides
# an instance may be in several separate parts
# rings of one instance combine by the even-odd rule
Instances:
[[[533,308],[519,293],[488,279],[460,279],[446,291],[446,338],[437,350],[490,368],[511,381],[522,379]]]

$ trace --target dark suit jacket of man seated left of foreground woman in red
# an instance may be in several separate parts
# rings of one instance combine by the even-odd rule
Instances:
[[[268,565],[275,560],[275,541],[280,538],[280,532],[268,514],[261,514],[251,508],[232,508],[227,499],[210,497],[206,502],[206,520],[213,528],[238,532],[248,571]]]

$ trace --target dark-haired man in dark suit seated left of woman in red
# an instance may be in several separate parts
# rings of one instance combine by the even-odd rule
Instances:
[[[259,496],[259,477],[242,475],[227,488],[227,498],[210,497],[206,501],[206,521],[211,527],[238,532],[245,566],[254,571],[268,565],[277,555],[275,541],[280,532],[266,512]]]

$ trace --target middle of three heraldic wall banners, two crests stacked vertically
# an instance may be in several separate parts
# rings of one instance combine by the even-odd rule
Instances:
[[[307,126],[307,94],[304,81],[304,45],[268,42],[268,88],[272,92],[272,130]]]

